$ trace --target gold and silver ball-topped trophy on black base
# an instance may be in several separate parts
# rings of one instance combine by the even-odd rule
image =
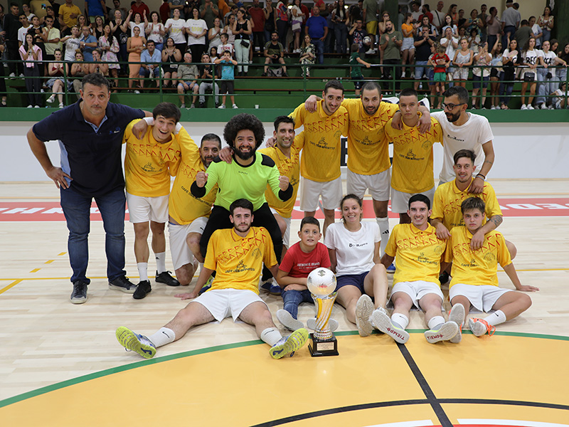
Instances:
[[[307,278],[307,287],[316,306],[316,325],[308,344],[310,355],[338,356],[338,341],[328,325],[332,306],[336,300],[336,276],[328,268],[312,270]]]

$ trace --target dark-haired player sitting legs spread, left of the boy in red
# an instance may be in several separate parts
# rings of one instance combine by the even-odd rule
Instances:
[[[243,147],[239,137],[235,145]],[[250,149],[249,152],[255,150]],[[233,162],[235,163],[237,162]],[[182,300],[196,300],[191,301],[174,319],[149,337],[136,334],[127,327],[119,327],[115,334],[125,349],[150,359],[156,354],[156,347],[184,337],[191,327],[213,320],[221,322],[229,316],[233,317],[234,321],[239,319],[254,326],[257,337],[271,346],[269,353],[273,359],[280,359],[288,354],[292,356],[307,342],[308,331],[304,328],[292,332],[288,337],[282,337],[272,322],[269,308],[259,297],[257,283],[262,263],[270,265],[275,275],[279,265],[273,254],[267,230],[251,226],[254,221],[253,204],[246,199],[238,199],[230,204],[229,211],[229,220],[233,226],[216,230],[211,236],[206,262],[196,288],[192,292],[175,295]],[[217,275],[211,290],[198,297],[199,290],[214,271]]]

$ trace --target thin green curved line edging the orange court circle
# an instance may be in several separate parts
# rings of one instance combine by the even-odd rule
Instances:
[[[426,331],[426,329],[410,329],[407,332],[411,334],[422,334]],[[373,334],[380,334],[381,332],[373,331]],[[463,331],[463,334],[472,334],[470,331]],[[358,331],[343,331],[343,332],[334,332],[334,335],[339,337],[345,337],[349,335],[357,335]],[[503,335],[505,337],[525,337],[525,338],[539,338],[539,339],[555,339],[558,341],[569,341],[569,337],[563,337],[561,335],[549,335],[549,334],[530,334],[526,332],[499,332],[496,331],[494,335]],[[109,369],[103,369],[102,371],[93,372],[92,374],[86,374],[83,376],[78,376],[77,378],[67,379],[65,381],[60,381],[55,384],[51,384],[49,386],[41,387],[40,389],[27,391],[23,394],[18,394],[17,396],[9,397],[8,399],[4,399],[0,401],[0,408],[4,406],[9,406],[11,404],[16,404],[20,401],[24,401],[26,399],[31,399],[36,396],[40,396],[41,394],[50,393],[51,391],[56,391],[59,389],[64,389],[68,386],[74,386],[75,384],[80,384],[86,381],[91,381],[92,379],[102,378],[103,376],[118,374],[119,372],[129,371],[131,369],[137,369],[141,367],[147,367],[151,364],[157,364],[162,362],[169,362],[171,360],[182,359],[184,357],[191,357],[197,356],[198,354],[206,354],[206,353],[213,353],[213,352],[220,352],[221,350],[228,350],[228,349],[238,349],[240,347],[250,347],[252,345],[258,344],[265,344],[260,339],[253,339],[252,341],[244,341],[244,342],[236,342],[234,344],[223,344],[214,347],[206,347],[204,349],[197,349],[191,350],[189,352],[181,352],[176,354],[170,354],[169,356],[164,357],[157,357],[156,359],[146,359],[141,360],[140,362],[134,362],[126,365],[122,365],[120,367],[114,367]]]

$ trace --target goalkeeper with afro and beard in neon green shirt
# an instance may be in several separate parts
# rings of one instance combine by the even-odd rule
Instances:
[[[191,184],[191,194],[200,199],[216,185],[219,187],[208,225],[201,236],[201,254],[206,256],[208,242],[214,231],[231,228],[230,204],[236,199],[246,198],[253,204],[253,226],[267,228],[276,259],[280,260],[282,235],[265,199],[265,189],[268,184],[275,196],[287,201],[292,197],[292,185],[287,176],[279,175],[279,169],[270,157],[256,152],[265,139],[265,128],[257,117],[246,113],[233,116],[225,125],[223,137],[233,148],[233,162],[214,159],[207,173],[198,172]]]

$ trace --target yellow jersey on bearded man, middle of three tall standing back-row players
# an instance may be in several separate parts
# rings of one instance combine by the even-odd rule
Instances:
[[[385,126],[395,112],[397,104],[381,102],[376,114],[368,115],[359,99],[342,101],[350,117],[348,129],[348,169],[355,174],[373,175],[391,166]]]

